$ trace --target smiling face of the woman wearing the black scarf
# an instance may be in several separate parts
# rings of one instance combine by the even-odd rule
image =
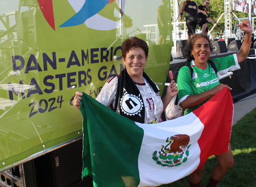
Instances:
[[[142,74],[147,61],[144,50],[140,47],[131,48],[131,50],[126,53],[125,58],[122,57],[122,59],[127,73],[132,80],[139,83],[143,82]]]

